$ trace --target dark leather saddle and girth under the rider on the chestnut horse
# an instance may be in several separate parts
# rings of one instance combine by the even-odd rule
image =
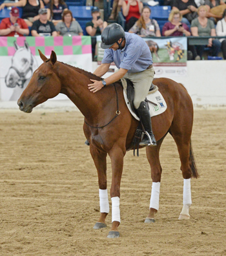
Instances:
[[[130,102],[132,111],[134,111],[137,115],[138,115],[138,111],[136,110],[136,108],[134,107],[134,85],[132,83],[132,81],[128,80],[127,78],[125,79],[127,81],[127,98],[128,101]],[[153,91],[154,89],[156,89],[156,86],[152,83],[150,85],[150,91]],[[145,98],[146,102],[151,103],[152,105],[157,105],[156,103],[147,100],[147,98]],[[147,104],[147,106],[149,107],[149,105]],[[139,115],[138,115],[139,116]],[[143,125],[141,124],[141,122],[139,122],[138,127],[136,129],[136,133],[134,134],[134,139],[132,140],[132,147],[134,149],[134,156],[135,156],[135,151],[137,150],[137,156],[139,156],[139,142],[141,142],[141,138],[142,138],[142,134],[145,133],[145,130],[143,129]]]

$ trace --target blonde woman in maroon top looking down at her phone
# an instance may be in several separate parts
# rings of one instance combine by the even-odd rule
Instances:
[[[179,10],[172,10],[169,15],[169,22],[163,26],[163,36],[190,36],[189,27],[185,23],[181,23],[181,13]],[[187,59],[200,60],[194,45],[187,46]]]

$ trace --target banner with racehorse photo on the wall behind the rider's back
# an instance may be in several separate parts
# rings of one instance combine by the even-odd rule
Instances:
[[[152,37],[143,38],[152,53],[155,77],[185,76],[187,74],[187,37]],[[104,50],[98,41],[98,64],[103,59]],[[110,67],[114,72],[114,63]]]

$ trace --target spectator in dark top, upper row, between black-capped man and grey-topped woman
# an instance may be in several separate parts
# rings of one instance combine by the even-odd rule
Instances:
[[[63,0],[51,0],[46,6],[47,8],[47,19],[52,21],[56,26],[58,22],[62,19],[62,14],[64,10],[68,10],[68,6]]]

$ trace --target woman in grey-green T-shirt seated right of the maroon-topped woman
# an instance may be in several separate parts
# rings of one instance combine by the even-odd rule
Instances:
[[[216,36],[214,22],[207,19],[207,8],[201,5],[198,8],[198,17],[191,24],[192,36]],[[221,43],[218,39],[209,38],[207,47],[211,47],[212,56],[218,56],[221,48]],[[196,45],[198,55],[203,56],[205,45]]]

